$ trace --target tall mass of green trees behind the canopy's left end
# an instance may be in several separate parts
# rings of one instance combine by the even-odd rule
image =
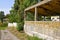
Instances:
[[[12,9],[10,10],[10,15],[9,15],[9,22],[13,23],[16,22],[18,23],[17,30],[20,31],[22,30],[24,26],[24,9],[34,5],[37,2],[37,0],[15,0],[14,5]],[[33,14],[28,14],[28,20],[32,20]]]

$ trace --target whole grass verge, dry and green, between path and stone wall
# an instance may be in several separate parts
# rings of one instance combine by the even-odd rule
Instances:
[[[28,36],[24,31],[17,31],[15,27],[10,27],[8,30],[13,33],[20,40],[43,40],[42,38]]]

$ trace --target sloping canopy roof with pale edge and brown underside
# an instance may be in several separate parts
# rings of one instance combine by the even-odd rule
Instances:
[[[60,0],[44,0],[33,6],[26,8],[24,11],[35,12],[35,7],[37,7],[37,12],[44,16],[55,16],[60,15]]]

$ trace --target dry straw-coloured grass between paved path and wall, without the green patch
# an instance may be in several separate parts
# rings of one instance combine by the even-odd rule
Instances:
[[[24,33],[24,31],[19,32],[15,27],[10,27],[8,30],[17,36],[20,40],[27,40],[27,35]]]

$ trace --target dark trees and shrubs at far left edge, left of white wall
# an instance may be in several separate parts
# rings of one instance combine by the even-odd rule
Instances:
[[[8,23],[5,20],[4,11],[0,11],[0,30],[6,29]]]

